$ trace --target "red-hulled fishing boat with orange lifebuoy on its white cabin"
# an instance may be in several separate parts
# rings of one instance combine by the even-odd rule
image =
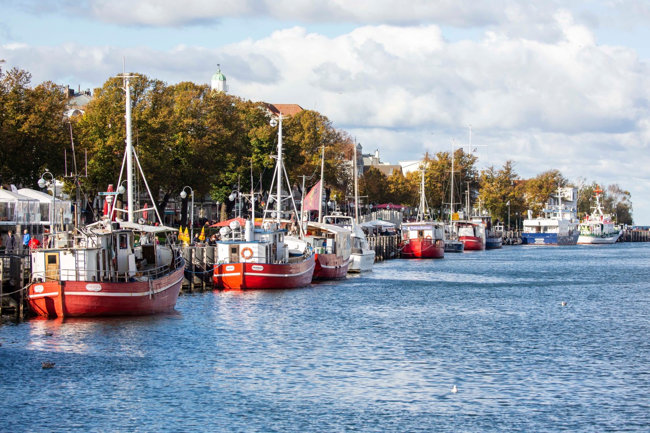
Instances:
[[[271,125],[277,125],[273,119]],[[276,194],[269,194],[265,218],[261,228],[255,228],[253,220],[246,220],[242,227],[237,220],[229,227],[221,228],[221,240],[216,244],[213,270],[214,287],[220,289],[293,289],[311,283],[315,268],[315,252],[301,239],[289,240],[288,231],[282,228],[283,215],[291,213],[282,204],[291,202],[294,215],[296,205],[287,181],[289,195],[283,195],[282,117],[278,127],[278,163],[274,183]],[[242,194],[251,203],[251,218],[255,215],[255,193],[251,173],[251,193]],[[269,209],[271,202],[276,208]],[[270,218],[266,218],[269,215]],[[301,234],[302,227],[300,228]]]

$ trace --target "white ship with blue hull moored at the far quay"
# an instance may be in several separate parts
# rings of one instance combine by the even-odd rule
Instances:
[[[558,188],[558,195],[549,198],[542,209],[543,217],[524,220],[522,243],[525,245],[575,245],[580,230],[576,215],[578,190],[573,187]]]

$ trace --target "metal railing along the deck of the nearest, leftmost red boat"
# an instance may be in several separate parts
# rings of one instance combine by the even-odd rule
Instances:
[[[83,282],[117,282],[117,283],[133,283],[133,282],[148,282],[155,280],[162,276],[171,274],[179,268],[185,267],[185,259],[178,254],[173,263],[161,265],[159,267],[150,269],[138,270],[92,270],[90,272],[79,269],[49,269],[37,272],[32,272],[30,276],[31,282],[51,282],[51,281],[83,281]],[[88,274],[90,280],[88,280]]]

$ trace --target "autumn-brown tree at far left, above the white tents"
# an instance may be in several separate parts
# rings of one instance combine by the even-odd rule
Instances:
[[[45,168],[63,174],[70,133],[62,88],[30,81],[25,70],[0,69],[0,183],[35,187]]]

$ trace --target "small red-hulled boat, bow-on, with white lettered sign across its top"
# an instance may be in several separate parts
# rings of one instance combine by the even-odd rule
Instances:
[[[402,224],[401,254],[404,259],[440,259],[445,257],[445,226],[428,215],[424,197],[424,172],[422,167],[420,205],[415,222]]]

